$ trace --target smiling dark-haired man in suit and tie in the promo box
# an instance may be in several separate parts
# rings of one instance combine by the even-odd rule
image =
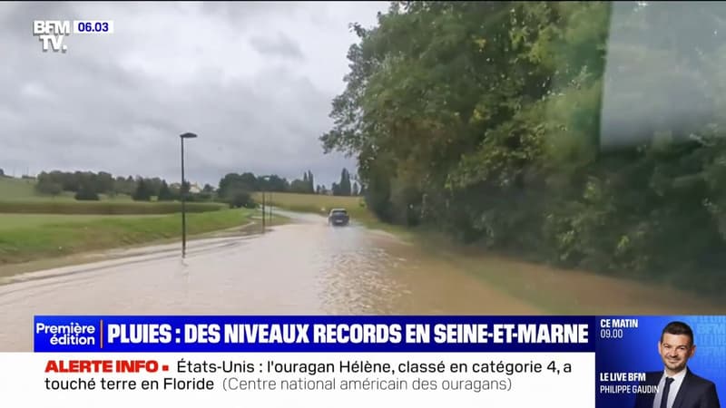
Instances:
[[[639,393],[635,408],[721,408],[716,385],[693,374],[688,360],[696,352],[693,331],[683,322],[666,325],[658,342],[662,371],[646,373],[642,385],[657,385],[657,393]]]

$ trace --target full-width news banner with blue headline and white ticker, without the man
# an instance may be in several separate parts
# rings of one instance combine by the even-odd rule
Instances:
[[[0,386],[54,406],[652,406],[673,321],[722,400],[726,316],[36,316],[33,363]]]

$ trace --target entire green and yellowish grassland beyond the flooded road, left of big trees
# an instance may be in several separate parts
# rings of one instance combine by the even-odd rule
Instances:
[[[260,193],[253,195],[258,202]],[[268,196],[270,198],[270,196]],[[271,193],[281,209],[328,214],[348,209],[354,221],[388,229],[361,197]],[[260,223],[260,211],[219,203],[187,203],[190,235]],[[34,180],[0,177],[0,265],[73,255],[90,250],[151,243],[181,235],[180,202],[134,202],[128,196],[76,201],[71,194],[42,196]],[[275,216],[273,223],[284,222]]]

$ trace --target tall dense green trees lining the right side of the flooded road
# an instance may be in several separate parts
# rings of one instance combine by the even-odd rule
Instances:
[[[394,2],[353,28],[320,140],[380,219],[726,287],[726,5]]]

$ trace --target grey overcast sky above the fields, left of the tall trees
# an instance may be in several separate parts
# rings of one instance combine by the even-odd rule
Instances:
[[[324,155],[345,86],[348,24],[388,2],[0,3],[0,168],[105,170],[217,185],[228,172],[312,170],[328,187],[355,160]],[[33,21],[113,20],[44,53]]]

